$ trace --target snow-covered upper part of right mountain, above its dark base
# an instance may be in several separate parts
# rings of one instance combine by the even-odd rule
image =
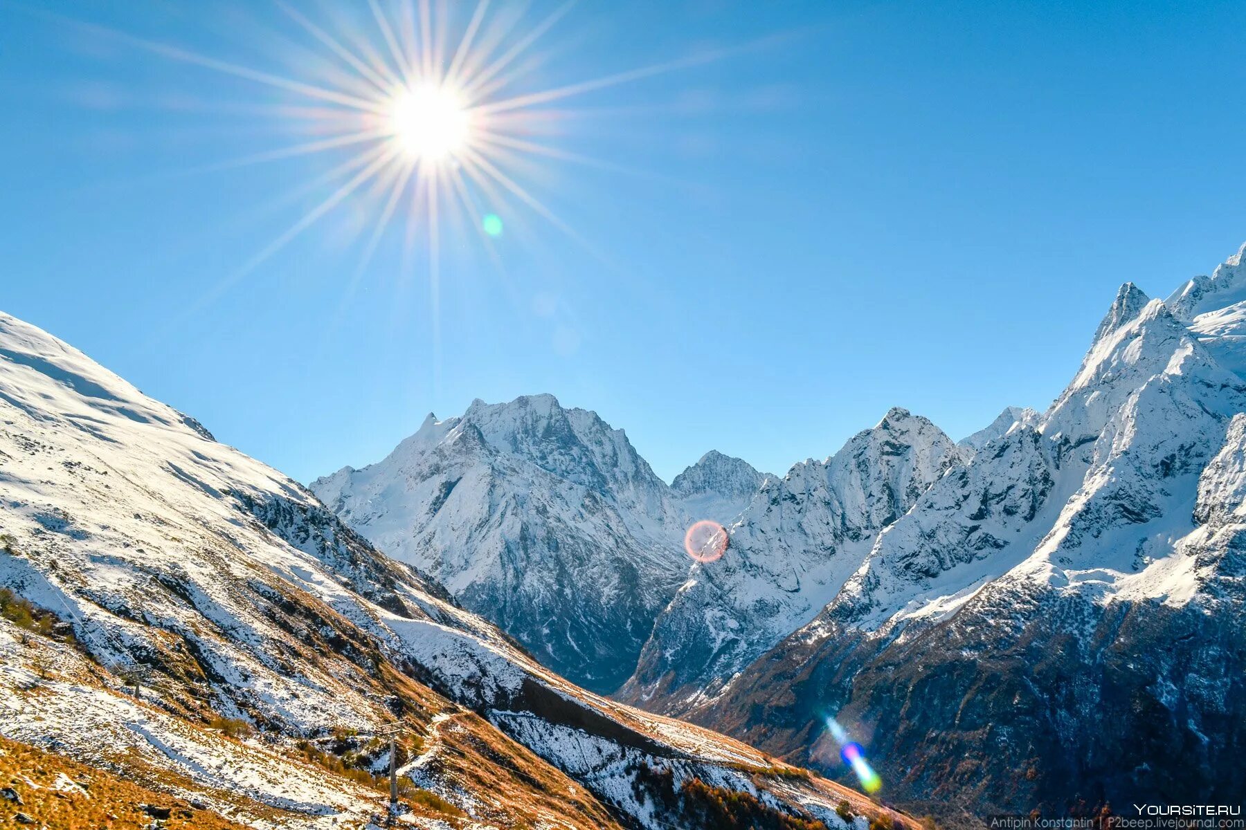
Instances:
[[[1246,383],[1159,300],[1131,319],[1119,305],[1038,429],[987,444],[931,488],[827,615],[873,626],[946,613],[1013,569],[1008,579],[1105,596],[1175,589],[1158,562],[1191,530],[1195,482],[1246,406]]]

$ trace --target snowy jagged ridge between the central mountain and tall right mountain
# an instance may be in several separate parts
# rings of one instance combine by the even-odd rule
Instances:
[[[728,554],[693,567],[645,643],[622,699],[688,711],[817,613],[875,538],[962,450],[893,408],[826,460],[768,479],[730,529]]]

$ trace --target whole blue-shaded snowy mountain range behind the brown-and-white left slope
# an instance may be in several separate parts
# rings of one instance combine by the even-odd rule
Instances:
[[[312,489],[546,664],[785,758],[830,714],[974,813],[1246,791],[1242,253],[1121,286],[1068,388],[959,443],[905,409],[784,478],[667,487],[549,396],[430,417]],[[730,526],[692,564],[684,528]]]

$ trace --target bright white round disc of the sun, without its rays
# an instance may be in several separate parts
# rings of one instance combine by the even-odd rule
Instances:
[[[461,92],[431,81],[401,87],[389,101],[390,138],[411,161],[445,163],[462,156],[471,112]]]

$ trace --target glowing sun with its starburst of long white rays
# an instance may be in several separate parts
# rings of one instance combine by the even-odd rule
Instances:
[[[283,128],[299,134],[297,143],[203,169],[312,154],[333,159],[320,175],[285,198],[318,193],[324,187],[328,193],[223,277],[212,289],[213,296],[245,279],[343,203],[356,198],[354,215],[364,221],[353,225],[360,253],[346,280],[346,294],[351,295],[364,277],[390,226],[405,225],[401,269],[404,275],[415,274],[415,248],[426,249],[435,327],[442,235],[450,233],[473,228],[501,270],[497,246],[522,240],[513,230],[503,239],[503,217],[508,228],[520,229],[525,225],[511,224],[511,217],[532,213],[607,266],[617,268],[530,190],[527,179],[543,183],[549,162],[647,174],[561,147],[559,138],[577,118],[597,117],[594,110],[578,111],[562,102],[716,60],[726,52],[714,50],[561,86],[533,87],[536,67],[543,67],[548,57],[533,45],[576,0],[564,0],[531,26],[522,14],[490,12],[491,2],[476,0],[467,14],[466,0],[368,0],[338,5],[366,6],[371,20],[368,14],[325,11],[325,19],[316,21],[297,4],[275,0],[309,39],[299,42],[293,55],[299,67],[294,76],[106,30],[162,57],[244,78],[285,96],[275,105],[255,105],[255,111],[280,118]],[[305,49],[312,41],[318,47]]]

